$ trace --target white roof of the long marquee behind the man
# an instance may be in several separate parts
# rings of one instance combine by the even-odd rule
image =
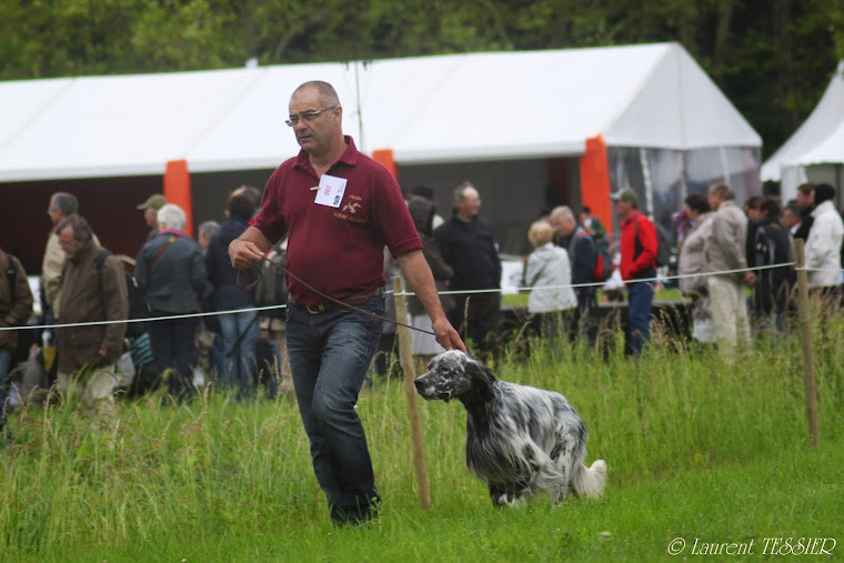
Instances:
[[[761,144],[682,47],[656,43],[0,82],[0,181],[274,168],[299,150],[283,121],[308,80],[334,86],[359,148],[405,164],[581,154],[599,133]]]

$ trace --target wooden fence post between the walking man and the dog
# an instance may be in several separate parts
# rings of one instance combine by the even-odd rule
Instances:
[[[404,284],[400,277],[393,278],[393,298],[395,299],[395,318],[400,322],[408,320],[408,303],[404,299]],[[413,361],[413,348],[410,342],[410,329],[399,324],[399,355],[401,356],[402,371],[404,372],[404,393],[408,395],[408,410],[410,414],[410,430],[413,439],[413,464],[416,468],[416,483],[419,484],[419,504],[423,509],[431,507],[431,491],[428,486],[428,468],[425,466],[425,445],[422,434],[422,422],[419,418],[419,403],[416,401],[416,388],[413,382],[416,379],[416,363]]]

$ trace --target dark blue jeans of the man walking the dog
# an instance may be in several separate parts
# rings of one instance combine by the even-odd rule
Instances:
[[[384,298],[360,309],[383,315]],[[316,481],[335,522],[366,520],[380,497],[354,405],[382,321],[349,309],[312,314],[293,302],[287,315],[288,355]]]

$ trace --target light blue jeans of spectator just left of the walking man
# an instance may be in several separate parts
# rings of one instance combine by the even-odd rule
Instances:
[[[255,342],[261,334],[257,311],[220,315],[223,335],[223,381],[243,399],[253,386]],[[239,343],[240,342],[240,343]]]

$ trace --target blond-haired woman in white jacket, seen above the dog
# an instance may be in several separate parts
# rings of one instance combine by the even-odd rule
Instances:
[[[572,269],[569,253],[552,242],[554,229],[545,221],[536,221],[528,231],[528,240],[534,250],[528,258],[525,286],[531,291],[528,312],[540,316],[542,334],[553,339],[565,334],[567,315],[561,311],[573,311],[577,296],[572,289]]]

